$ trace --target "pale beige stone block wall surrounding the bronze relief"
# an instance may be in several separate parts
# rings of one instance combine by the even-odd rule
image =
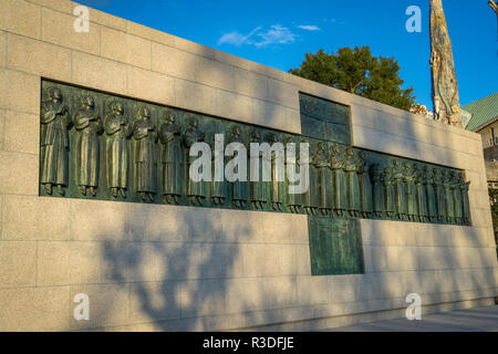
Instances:
[[[0,0],[0,330],[318,330],[494,303],[480,135],[66,0]],[[307,217],[40,198],[41,77],[300,133],[298,93],[351,105],[353,145],[466,170],[471,227],[362,220],[365,274],[311,277]],[[90,321],[75,321],[76,293]]]

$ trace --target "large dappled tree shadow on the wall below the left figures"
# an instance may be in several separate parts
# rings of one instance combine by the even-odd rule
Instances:
[[[172,209],[158,208],[164,209],[165,215]],[[102,243],[101,257],[108,280],[128,287],[128,323],[154,322],[145,330],[204,330],[209,326],[204,317],[227,313],[229,283],[234,275],[240,277],[234,269],[240,246],[225,240],[235,237],[241,241],[253,230],[240,227],[227,236],[221,222],[209,212],[201,216],[198,209],[181,209],[174,223],[179,226],[176,232],[180,235],[176,236],[185,241],[178,238],[167,241],[160,231],[149,232],[132,225],[133,241]],[[147,219],[147,216],[141,215],[141,218]]]

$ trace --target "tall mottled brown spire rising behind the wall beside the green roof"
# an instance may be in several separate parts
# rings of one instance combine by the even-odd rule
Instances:
[[[458,84],[442,0],[430,1],[430,70],[434,116],[463,127]]]

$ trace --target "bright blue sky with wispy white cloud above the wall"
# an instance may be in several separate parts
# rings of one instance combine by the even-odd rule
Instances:
[[[370,45],[395,58],[405,87],[432,108],[428,0],[80,0],[80,3],[282,71],[304,53]],[[497,18],[487,0],[444,0],[460,103],[498,91]],[[422,32],[408,33],[409,6],[422,9]]]

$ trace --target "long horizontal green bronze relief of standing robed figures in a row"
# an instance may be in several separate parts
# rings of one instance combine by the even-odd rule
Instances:
[[[42,88],[42,196],[341,219],[470,222],[470,183],[460,170],[49,81],[43,81]],[[334,124],[330,132],[343,129]],[[211,180],[189,178],[198,158],[189,154],[195,143],[206,143],[211,152]],[[227,179],[228,166],[238,154],[227,154],[231,143],[247,152],[247,179]],[[263,143],[282,145],[282,165],[277,149],[262,148],[253,156],[256,164],[251,163],[251,144]],[[287,156],[289,144],[294,144],[294,156]],[[301,159],[300,144],[308,144],[309,158]],[[267,178],[264,166],[270,167]],[[307,168],[301,183],[309,188],[289,192],[289,170],[299,175]],[[238,167],[232,171],[240,173]],[[251,175],[257,175],[255,180]]]

